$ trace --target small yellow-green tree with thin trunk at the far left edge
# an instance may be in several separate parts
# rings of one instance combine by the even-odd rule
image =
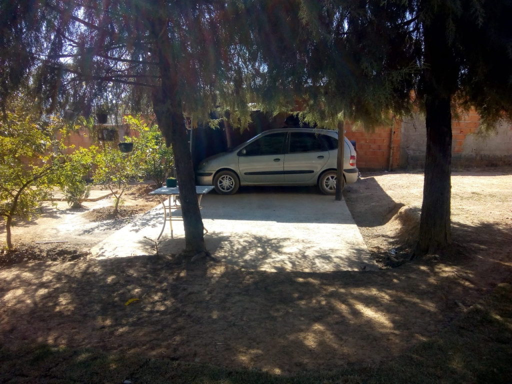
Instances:
[[[0,216],[6,220],[8,249],[14,248],[13,218],[36,214],[48,195],[50,176],[63,161],[61,143],[53,135],[55,123],[32,114],[22,97],[9,105],[0,121]]]

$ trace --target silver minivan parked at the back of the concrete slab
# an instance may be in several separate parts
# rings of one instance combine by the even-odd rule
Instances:
[[[326,195],[336,190],[338,156],[336,131],[282,128],[263,132],[233,148],[203,160],[196,170],[198,185],[213,185],[231,195],[241,185],[318,185]],[[356,153],[345,138],[343,174],[357,181]]]

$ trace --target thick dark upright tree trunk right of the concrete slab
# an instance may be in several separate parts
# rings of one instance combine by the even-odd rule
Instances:
[[[442,250],[451,241],[451,96],[457,71],[445,26],[441,14],[423,28],[426,155],[415,257]]]

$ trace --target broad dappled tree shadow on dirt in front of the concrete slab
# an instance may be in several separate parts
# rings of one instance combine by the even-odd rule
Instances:
[[[266,272],[156,256],[33,263],[0,271],[0,331],[13,346],[330,370],[386,360],[435,336],[481,293],[454,271],[466,273],[442,263]]]

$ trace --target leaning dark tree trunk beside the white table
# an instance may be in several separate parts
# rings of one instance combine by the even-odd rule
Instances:
[[[160,84],[153,93],[153,110],[167,146],[173,146],[176,178],[185,228],[185,253],[194,256],[206,251],[203,220],[196,194],[194,167],[188,147],[183,105],[179,97],[176,63],[167,33],[166,19],[154,22],[156,55],[159,59]]]

